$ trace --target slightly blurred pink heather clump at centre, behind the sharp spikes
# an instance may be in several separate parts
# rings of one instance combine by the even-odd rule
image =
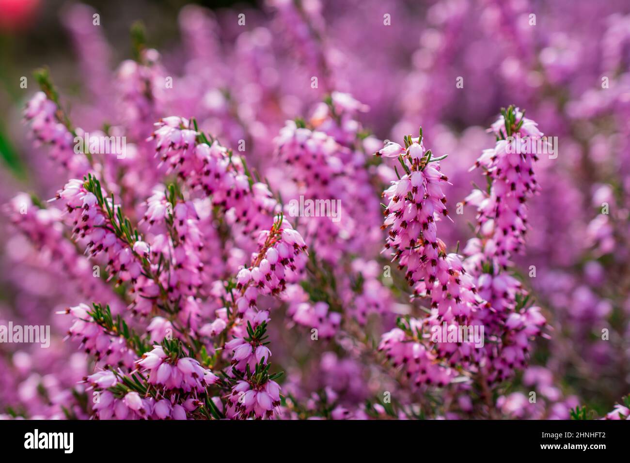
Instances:
[[[355,111],[333,113],[334,101],[330,105],[316,109],[312,129],[288,121],[274,143],[278,161],[289,166],[292,180],[287,184],[278,179],[281,193],[292,198],[285,202],[284,212],[290,217],[306,215],[297,231],[309,246],[319,249],[322,260],[334,263],[344,252],[374,249],[381,237],[375,228],[379,205],[369,186]],[[309,212],[300,206],[308,202],[329,204],[329,211]]]

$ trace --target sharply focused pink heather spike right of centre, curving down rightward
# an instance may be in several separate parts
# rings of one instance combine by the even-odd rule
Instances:
[[[448,216],[440,186],[448,178],[437,162],[427,163],[420,139],[410,138],[407,145],[403,163],[408,173],[383,192],[383,228],[389,227],[385,248],[399,261],[415,294],[429,297],[440,317],[466,319],[480,304],[473,278],[437,237],[437,221]]]

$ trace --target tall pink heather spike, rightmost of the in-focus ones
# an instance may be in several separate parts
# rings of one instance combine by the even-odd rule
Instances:
[[[510,136],[542,135],[536,123],[524,118],[518,108],[510,107],[506,114],[514,118]],[[490,193],[474,190],[466,198],[466,202],[477,207],[479,231],[479,237],[469,240],[464,249],[469,255],[466,268],[476,276],[479,295],[487,301],[478,317],[490,331],[488,334],[497,340],[489,346],[484,368],[490,383],[506,380],[527,365],[530,342],[541,335],[546,325],[539,307],[515,311],[518,297],[524,298],[527,292],[517,278],[506,272],[512,254],[523,249],[527,231],[525,202],[538,187],[532,168],[536,153],[515,150],[518,140],[506,139],[505,125],[502,115],[491,129],[497,137],[495,149],[485,150],[476,162],[491,180]]]

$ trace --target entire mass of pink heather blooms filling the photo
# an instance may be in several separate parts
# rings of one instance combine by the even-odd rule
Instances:
[[[0,418],[626,419],[630,17],[558,2],[189,5],[164,54],[67,6],[80,81],[0,123],[0,321],[51,328]]]

